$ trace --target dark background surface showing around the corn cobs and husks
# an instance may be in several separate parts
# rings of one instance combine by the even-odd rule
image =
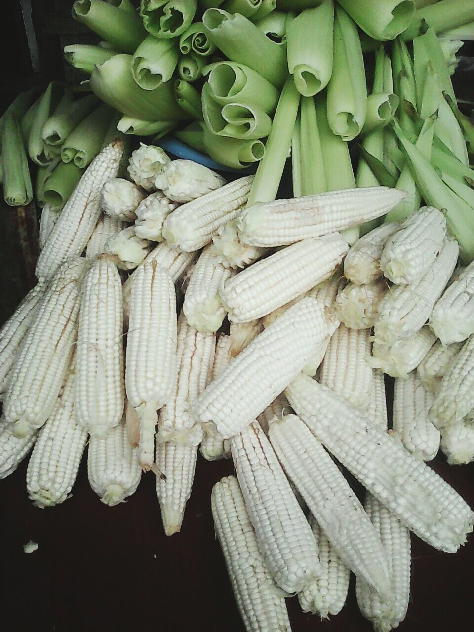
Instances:
[[[41,72],[33,73],[20,1],[2,4],[0,111],[32,84],[74,78],[64,67],[61,47],[90,38],[70,19],[71,0],[32,0],[41,64]],[[472,44],[466,45],[463,54],[472,56],[472,51]],[[468,60],[454,83],[458,97],[472,100],[469,65]],[[20,260],[14,225],[13,212],[1,208],[0,323],[32,283]],[[474,464],[451,467],[439,456],[432,465],[474,506]],[[243,632],[210,514],[212,485],[233,473],[231,462],[198,457],[183,529],[171,538],[162,529],[151,473],[143,475],[130,501],[106,507],[88,486],[85,456],[73,497],[38,509],[27,497],[26,469],[27,462],[0,481],[0,629]],[[28,540],[39,544],[29,555],[23,552]],[[474,537],[453,556],[413,536],[412,559],[411,604],[401,632],[471,629]],[[370,631],[358,612],[353,579],[346,606],[329,622],[302,613],[296,599],[288,600],[293,632]]]

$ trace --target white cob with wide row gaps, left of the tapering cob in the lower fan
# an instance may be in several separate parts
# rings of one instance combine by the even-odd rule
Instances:
[[[231,453],[258,545],[276,583],[293,593],[320,572],[317,542],[257,422],[231,439]]]

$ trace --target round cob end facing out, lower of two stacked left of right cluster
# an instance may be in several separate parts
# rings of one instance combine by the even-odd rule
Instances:
[[[336,297],[336,313],[339,320],[351,329],[372,327],[386,291],[387,283],[384,279],[377,279],[366,285],[349,282]]]

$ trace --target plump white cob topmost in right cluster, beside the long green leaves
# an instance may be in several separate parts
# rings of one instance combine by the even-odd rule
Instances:
[[[425,207],[408,217],[387,241],[380,269],[392,283],[412,285],[434,264],[446,237],[446,217]]]

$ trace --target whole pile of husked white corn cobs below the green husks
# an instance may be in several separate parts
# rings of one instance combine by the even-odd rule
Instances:
[[[450,463],[474,456],[474,264],[455,269],[432,207],[349,247],[340,231],[403,191],[246,207],[252,176],[226,183],[142,145],[117,178],[122,154],[112,141],[59,216],[43,212],[37,286],[0,331],[0,477],[34,446],[28,495],[58,504],[88,443],[106,504],[155,473],[171,535],[198,450],[230,456],[237,478],[211,502],[246,629],[288,632],[293,593],[337,614],[349,571],[375,629],[398,626],[410,531],[455,552],[472,530],[424,461],[440,444]],[[396,379],[388,432],[383,372]]]

